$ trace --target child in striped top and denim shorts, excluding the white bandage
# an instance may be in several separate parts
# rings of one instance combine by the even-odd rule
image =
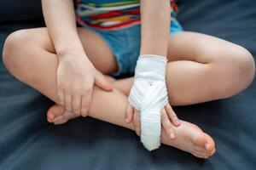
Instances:
[[[131,87],[137,87],[133,77],[114,80],[102,73],[130,74],[137,59],[147,54],[156,60],[166,57],[170,105],[161,110],[161,142],[197,157],[212,156],[212,138],[194,124],[177,122],[171,105],[224,99],[247,88],[254,77],[253,56],[247,49],[183,31],[174,12],[170,14],[174,3],[171,8],[164,0],[77,1],[76,16],[83,28],[76,27],[72,0],[42,4],[47,28],[9,35],[3,62],[21,82],[55,101],[47,113],[49,122],[92,116],[140,135],[139,111],[127,102]],[[151,65],[143,68],[150,70]]]

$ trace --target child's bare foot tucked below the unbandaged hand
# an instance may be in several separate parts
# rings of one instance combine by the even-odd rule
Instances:
[[[52,122],[55,125],[63,124],[69,119],[73,119],[79,116],[80,115],[78,114],[65,110],[64,106],[57,104],[51,106],[47,111],[48,122]]]

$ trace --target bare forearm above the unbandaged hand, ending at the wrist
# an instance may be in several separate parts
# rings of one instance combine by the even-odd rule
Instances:
[[[72,0],[42,0],[44,20],[57,54],[83,49],[77,31]]]

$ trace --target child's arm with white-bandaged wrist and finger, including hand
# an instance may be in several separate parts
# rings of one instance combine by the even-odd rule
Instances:
[[[169,42],[171,7],[168,0],[142,0],[141,56],[137,61],[135,82],[131,88],[129,103],[140,111],[141,140],[148,150],[160,145],[160,126],[168,136],[174,138],[171,122],[179,122],[166,91],[166,54]],[[148,83],[147,83],[148,82]],[[127,106],[127,122],[131,122],[131,105]],[[170,118],[170,120],[169,120]],[[139,122],[134,122],[140,129]]]

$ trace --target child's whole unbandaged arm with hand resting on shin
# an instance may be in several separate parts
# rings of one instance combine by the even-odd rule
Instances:
[[[44,20],[59,57],[58,96],[68,111],[87,115],[94,83],[111,90],[87,58],[77,31],[73,0],[42,0]]]

